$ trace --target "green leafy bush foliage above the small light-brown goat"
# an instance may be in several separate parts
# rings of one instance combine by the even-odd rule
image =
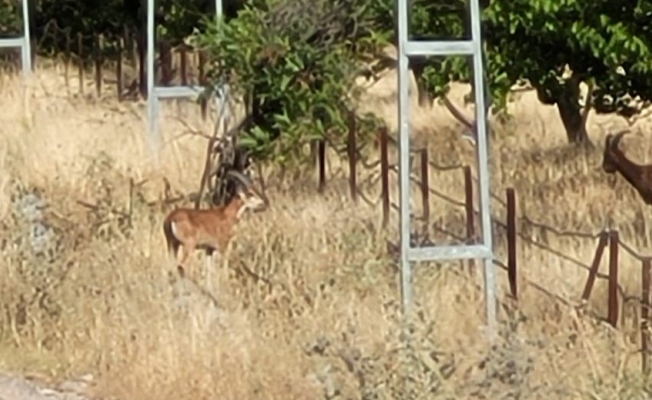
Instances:
[[[246,101],[252,122],[240,144],[252,157],[300,161],[304,145],[337,142],[347,132],[360,95],[353,82],[383,40],[365,32],[362,13],[351,12],[364,6],[361,0],[249,2],[237,17],[208,20],[196,33],[196,45],[213,61],[213,85],[224,79],[233,97]],[[370,115],[359,118],[362,126],[373,124]]]

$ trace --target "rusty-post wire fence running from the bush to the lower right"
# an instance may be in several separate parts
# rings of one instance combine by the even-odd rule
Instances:
[[[380,202],[382,204],[382,224],[384,227],[387,226],[389,221],[390,212],[398,210],[398,205],[391,202],[390,198],[390,188],[389,188],[389,178],[391,173],[398,174],[398,166],[391,165],[389,162],[389,147],[397,147],[397,143],[394,139],[390,138],[389,133],[386,128],[381,129],[378,134],[377,144],[379,145],[380,159],[377,161],[370,162],[367,159],[362,157],[360,150],[357,148],[356,143],[356,129],[354,124],[350,124],[348,142],[346,146],[346,153],[348,158],[348,168],[349,168],[349,192],[350,197],[354,202],[362,200],[366,204],[376,207]],[[327,144],[323,141],[319,142],[317,145],[317,165],[318,165],[318,191],[323,192],[326,187],[326,146]],[[466,229],[465,237],[461,237],[459,234],[454,234],[452,232],[445,232],[440,229],[441,233],[445,233],[448,236],[452,237],[454,240],[464,242],[464,243],[473,243],[479,239],[478,232],[476,232],[475,219],[479,217],[480,211],[474,208],[474,185],[477,183],[477,178],[472,174],[472,170],[469,166],[465,165],[453,165],[453,166],[440,166],[436,163],[430,161],[428,156],[428,149],[419,149],[413,150],[412,152],[419,159],[419,168],[418,174],[411,174],[410,179],[419,187],[421,192],[421,215],[415,217],[416,220],[419,220],[424,224],[424,226],[429,226],[433,228],[431,221],[431,210],[430,210],[430,201],[431,196],[436,197],[439,200],[446,201],[447,203],[464,207],[465,210],[465,219],[466,219]],[[372,175],[371,178],[368,178],[364,183],[365,184],[376,184],[378,181],[381,183],[380,198],[372,199],[369,196],[365,195],[360,189],[360,182],[358,182],[358,166],[362,166],[366,170],[377,169],[378,174]],[[465,198],[463,201],[452,198],[436,189],[433,189],[429,186],[429,175],[432,170],[437,171],[454,171],[461,170],[463,171],[464,177],[464,193]],[[650,271],[652,265],[652,255],[644,255],[638,252],[633,248],[633,246],[625,243],[619,235],[619,232],[616,230],[603,230],[600,232],[580,232],[580,231],[567,231],[560,230],[549,225],[533,221],[532,219],[521,216],[518,214],[517,209],[517,196],[514,188],[507,188],[503,196],[496,194],[495,192],[491,193],[491,198],[500,206],[504,207],[506,210],[506,218],[503,222],[499,218],[492,216],[492,223],[494,231],[502,230],[506,236],[506,247],[507,247],[507,259],[506,261],[496,258],[494,263],[499,268],[503,269],[507,273],[507,279],[509,283],[509,297],[514,301],[518,301],[519,298],[519,284],[527,285],[528,287],[534,288],[538,292],[546,295],[550,299],[564,304],[568,307],[573,307],[578,311],[584,311],[586,309],[586,304],[589,301],[593,288],[597,279],[607,281],[607,316],[601,317],[595,315],[595,317],[608,322],[612,327],[617,328],[620,325],[625,323],[624,313],[622,313],[623,307],[628,303],[638,303],[640,309],[640,319],[636,321],[637,324],[640,323],[640,335],[641,335],[641,354],[642,360],[641,365],[645,373],[649,371],[648,365],[648,356],[649,356],[649,341],[650,336],[648,332],[649,326],[649,307],[650,307]],[[536,240],[530,235],[521,232],[527,228],[538,229],[542,232],[546,232],[546,235],[553,235],[556,237],[566,237],[566,238],[576,238],[583,240],[591,240],[595,243],[594,255],[590,262],[585,262],[579,260],[575,257],[565,254],[563,251],[555,249],[544,241]],[[559,294],[553,293],[551,290],[543,287],[538,282],[529,280],[525,277],[519,277],[519,261],[518,261],[518,241],[521,240],[528,245],[535,246],[540,250],[547,252],[555,257],[562,259],[563,261],[574,265],[587,273],[586,282],[582,288],[581,294],[578,300],[574,301],[568,299]],[[641,265],[641,294],[640,296],[628,296],[623,287],[619,283],[619,266],[620,266],[620,252],[624,251],[631,257],[633,257],[637,262],[640,262]],[[608,270],[607,273],[600,272],[600,266],[605,253],[608,253]],[[473,271],[475,260],[469,260],[469,271]]]

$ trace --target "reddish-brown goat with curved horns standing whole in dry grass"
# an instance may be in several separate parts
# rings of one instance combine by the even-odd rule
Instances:
[[[168,214],[163,222],[163,232],[168,252],[175,261],[179,247],[183,246],[183,257],[177,265],[181,276],[190,254],[197,248],[206,251],[206,273],[210,282],[213,252],[224,255],[233,236],[233,226],[247,210],[262,211],[269,206],[267,197],[256,190],[245,175],[229,171],[227,178],[235,180],[237,196],[225,206],[210,209],[177,208]]]

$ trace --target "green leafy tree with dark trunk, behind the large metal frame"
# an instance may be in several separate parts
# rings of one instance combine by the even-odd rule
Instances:
[[[468,37],[468,20],[455,14],[466,11],[462,0],[439,1],[452,14],[438,12],[433,2],[420,7],[422,1],[414,1],[415,36]],[[492,0],[483,11],[482,31],[494,110],[504,109],[514,84],[528,81],[542,103],[557,107],[568,141],[589,144],[582,82],[594,89],[587,107],[598,113],[628,117],[640,110],[632,99],[652,99],[651,17],[649,0]],[[448,82],[471,77],[459,58],[427,60],[414,72],[419,88],[435,96],[445,93]]]

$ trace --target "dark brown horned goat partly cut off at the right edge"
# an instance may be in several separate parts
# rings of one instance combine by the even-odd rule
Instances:
[[[628,132],[607,135],[602,169],[608,174],[619,172],[641,195],[645,204],[652,204],[652,165],[637,164],[618,148],[620,139]]]

